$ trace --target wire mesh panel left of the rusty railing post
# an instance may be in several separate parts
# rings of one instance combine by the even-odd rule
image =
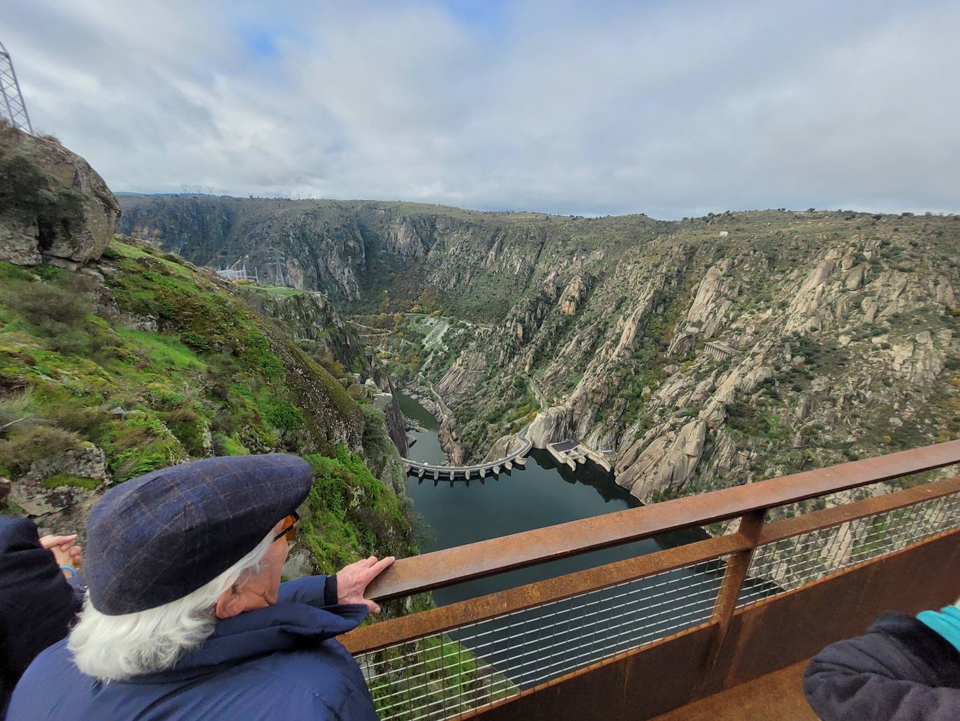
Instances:
[[[357,656],[383,721],[444,719],[709,621],[726,559]]]

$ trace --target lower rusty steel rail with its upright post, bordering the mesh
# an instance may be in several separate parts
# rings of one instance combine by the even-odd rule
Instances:
[[[389,619],[355,629],[340,636],[340,640],[347,646],[350,653],[366,653],[420,636],[442,633],[459,626],[485,621],[506,613],[561,601],[597,588],[635,581],[694,563],[729,556],[730,561],[727,563],[721,585],[721,596],[726,594],[729,600],[723,603],[718,597],[713,616],[708,621],[715,624],[717,629],[708,659],[708,663],[712,663],[723,647],[736,599],[746,576],[742,559],[740,562],[735,562],[738,556],[752,556],[757,546],[783,538],[819,531],[877,513],[907,508],[957,492],[960,492],[960,476],[953,476],[765,525],[757,521],[762,511],[754,511],[753,520],[747,524],[741,524],[741,529],[730,535],[707,538],[645,556],[615,561],[596,568],[517,586],[438,609]],[[747,568],[749,568],[749,559]]]

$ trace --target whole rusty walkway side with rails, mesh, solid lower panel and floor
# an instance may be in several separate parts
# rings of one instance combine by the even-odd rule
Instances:
[[[958,465],[953,440],[398,559],[369,587],[373,600],[673,531],[730,529],[340,638],[384,721],[697,718],[711,697],[734,709],[711,719],[751,718],[741,705],[754,697],[754,717],[804,718],[790,713],[805,712],[805,659],[885,610],[960,596],[960,578],[943,573],[960,567],[960,476],[908,479]],[[898,479],[908,481],[767,520],[768,510]]]

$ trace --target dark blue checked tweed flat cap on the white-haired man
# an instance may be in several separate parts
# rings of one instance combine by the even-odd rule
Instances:
[[[297,456],[229,456],[153,471],[111,488],[86,522],[84,577],[108,615],[153,609],[250,553],[310,492]]]

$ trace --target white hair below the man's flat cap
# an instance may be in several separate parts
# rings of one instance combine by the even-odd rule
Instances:
[[[213,581],[154,609],[108,616],[93,608],[87,592],[80,620],[67,642],[77,668],[101,681],[123,681],[171,668],[184,652],[213,633],[217,599],[259,570],[273,539],[271,531]]]

